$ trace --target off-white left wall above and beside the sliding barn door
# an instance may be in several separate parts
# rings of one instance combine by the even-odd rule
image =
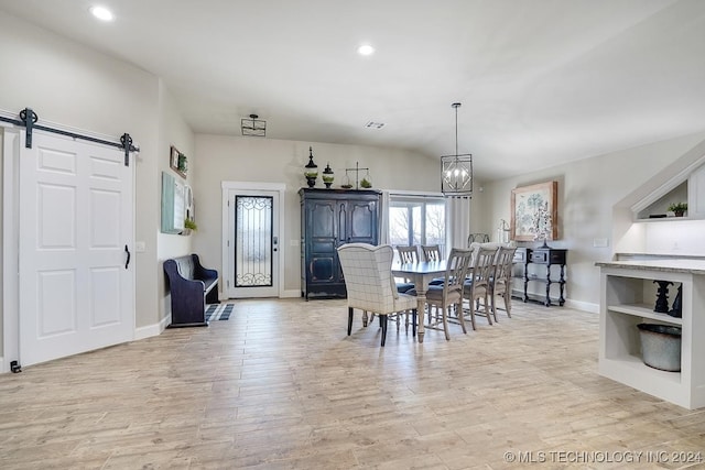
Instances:
[[[141,68],[65,40],[0,12],[0,109],[31,107],[40,123],[58,123],[119,138],[128,132],[140,147],[135,170],[137,327],[158,334],[163,309],[160,256],[188,252],[188,241],[170,244],[159,236],[161,170],[169,168],[169,143],[193,152],[193,133],[178,116],[161,80]],[[195,164],[195,160],[193,161]],[[160,243],[162,244],[160,247]],[[0,313],[1,318],[1,313]],[[0,349],[1,350],[1,349]]]

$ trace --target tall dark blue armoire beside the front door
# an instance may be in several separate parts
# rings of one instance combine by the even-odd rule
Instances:
[[[302,188],[301,295],[345,297],[337,248],[379,242],[378,190]]]

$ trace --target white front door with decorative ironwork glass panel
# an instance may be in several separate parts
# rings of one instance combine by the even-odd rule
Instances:
[[[229,298],[279,296],[279,198],[278,190],[227,192]]]

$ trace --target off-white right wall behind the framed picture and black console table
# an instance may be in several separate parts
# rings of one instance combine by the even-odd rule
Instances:
[[[599,272],[595,262],[612,256],[614,206],[704,138],[705,133],[686,135],[486,183],[484,197],[488,205],[484,219],[474,220],[488,233],[496,233],[500,218],[510,220],[510,197],[514,187],[557,181],[560,233],[558,240],[549,244],[568,249],[568,302],[578,308],[597,311]],[[600,238],[608,240],[607,248],[593,247],[594,240]]]

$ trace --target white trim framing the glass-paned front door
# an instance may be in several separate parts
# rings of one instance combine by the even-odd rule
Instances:
[[[221,190],[223,190],[223,196],[221,196],[221,201],[220,201],[220,207],[221,207],[221,214],[223,214],[223,219],[221,219],[221,227],[223,227],[223,236],[221,236],[221,248],[220,248],[220,253],[221,253],[221,266],[223,266],[223,272],[224,272],[224,281],[227,278],[227,276],[225,275],[225,273],[227,272],[226,270],[230,269],[229,265],[229,259],[228,259],[228,250],[230,249],[228,247],[228,240],[230,237],[230,233],[228,231],[228,227],[229,227],[229,217],[230,214],[228,211],[228,194],[231,190],[268,190],[268,192],[273,192],[276,193],[276,200],[275,204],[279,205],[279,267],[278,267],[278,272],[276,272],[276,276],[278,278],[278,293],[276,296],[279,298],[284,297],[284,261],[286,259],[285,255],[285,243],[282,242],[282,240],[285,240],[283,233],[284,233],[284,194],[286,193],[286,185],[284,183],[254,183],[254,182],[223,182],[220,184]],[[224,286],[224,296],[225,293],[227,292],[227,287]]]

